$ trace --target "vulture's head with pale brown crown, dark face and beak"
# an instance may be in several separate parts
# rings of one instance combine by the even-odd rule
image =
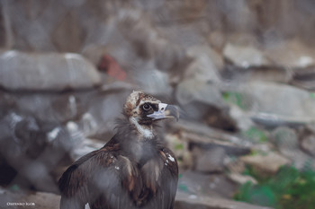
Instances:
[[[162,103],[142,91],[133,91],[130,94],[124,105],[124,115],[136,126],[140,134],[148,137],[152,135],[152,125],[158,120],[179,118],[175,106]]]

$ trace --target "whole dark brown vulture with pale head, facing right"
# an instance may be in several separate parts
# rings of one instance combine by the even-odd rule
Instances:
[[[101,149],[75,161],[58,180],[61,209],[171,209],[178,166],[158,135],[157,121],[176,118],[173,105],[133,91],[116,134]]]

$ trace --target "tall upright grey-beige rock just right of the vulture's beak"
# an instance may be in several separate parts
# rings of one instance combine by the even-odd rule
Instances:
[[[188,48],[192,62],[184,71],[184,80],[175,89],[175,98],[184,110],[184,118],[202,119],[211,110],[226,108],[220,96],[222,57],[206,46]]]

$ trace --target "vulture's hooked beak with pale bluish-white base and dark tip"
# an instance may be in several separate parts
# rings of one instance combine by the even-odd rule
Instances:
[[[174,105],[168,105],[165,103],[158,103],[158,110],[148,115],[149,118],[153,120],[166,119],[166,118],[176,118],[178,121],[179,112]]]

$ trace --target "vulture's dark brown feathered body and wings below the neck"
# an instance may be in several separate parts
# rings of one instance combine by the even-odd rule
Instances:
[[[114,136],[115,137],[115,136]],[[59,179],[60,208],[171,209],[178,177],[173,152],[158,150],[139,165],[120,151],[114,137],[72,164]]]

